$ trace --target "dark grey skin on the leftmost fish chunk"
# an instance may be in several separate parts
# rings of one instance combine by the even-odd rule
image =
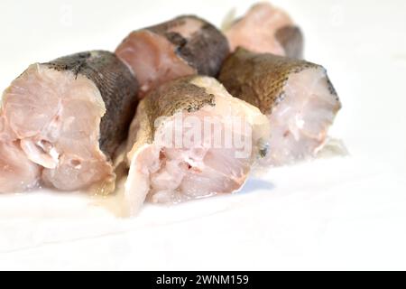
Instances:
[[[100,122],[100,149],[110,158],[125,141],[137,105],[138,83],[128,67],[109,51],[85,51],[42,63],[92,80],[106,106]]]

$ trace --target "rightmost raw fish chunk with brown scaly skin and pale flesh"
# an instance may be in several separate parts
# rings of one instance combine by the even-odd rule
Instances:
[[[225,61],[219,80],[269,117],[270,152],[264,163],[314,156],[341,108],[327,71],[307,61],[239,48]]]

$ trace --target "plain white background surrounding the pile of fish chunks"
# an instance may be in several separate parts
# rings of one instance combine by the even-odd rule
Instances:
[[[275,169],[236,195],[115,219],[77,194],[0,196],[0,269],[406,269],[406,2],[273,1],[343,103],[350,155]],[[114,50],[178,14],[250,1],[1,1],[0,88],[28,64]]]

